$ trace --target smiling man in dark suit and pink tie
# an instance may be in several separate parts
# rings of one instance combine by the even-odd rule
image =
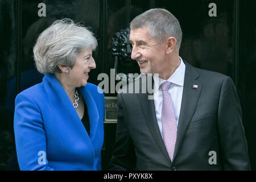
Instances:
[[[109,169],[250,170],[231,78],[181,59],[180,24],[167,10],[148,10],[134,18],[130,28],[131,58],[142,73],[152,76],[142,76],[118,94],[117,138]],[[154,92],[143,93],[148,88],[143,77],[152,78]],[[125,92],[138,84],[139,93]]]

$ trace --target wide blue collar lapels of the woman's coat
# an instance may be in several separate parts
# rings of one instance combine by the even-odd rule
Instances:
[[[80,131],[81,133],[84,133],[84,135],[88,136],[71,100],[55,75],[52,73],[45,75],[43,78],[43,85],[46,89],[48,100],[51,103],[51,109],[55,111],[55,114],[59,114],[59,117],[63,117],[63,120],[70,122],[72,126],[77,126],[79,128],[77,130],[78,132]],[[98,108],[92,95],[90,94],[88,85],[81,86],[78,89],[80,90],[88,109],[90,140],[93,140],[100,119]]]

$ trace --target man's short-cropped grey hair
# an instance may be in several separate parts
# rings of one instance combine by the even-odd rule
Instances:
[[[179,51],[182,31],[179,20],[169,11],[158,8],[150,9],[136,16],[130,23],[131,30],[143,27],[147,27],[150,37],[158,42],[163,42],[166,38],[173,36]]]

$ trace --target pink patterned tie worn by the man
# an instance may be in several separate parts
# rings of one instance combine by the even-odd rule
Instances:
[[[163,106],[162,106],[162,127],[163,127],[163,140],[166,146],[168,155],[172,161],[174,156],[174,148],[177,137],[177,124],[174,113],[174,106],[172,105],[172,98],[168,93],[168,88],[172,82],[165,81],[160,85],[163,91]]]

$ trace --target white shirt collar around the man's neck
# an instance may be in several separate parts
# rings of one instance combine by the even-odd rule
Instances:
[[[172,82],[173,84],[183,86],[184,85],[184,77],[185,77],[185,64],[180,57],[180,65],[177,67],[174,73],[167,79],[167,81]],[[166,80],[163,80],[160,77],[153,76],[154,78],[154,88],[159,89],[159,86]]]

